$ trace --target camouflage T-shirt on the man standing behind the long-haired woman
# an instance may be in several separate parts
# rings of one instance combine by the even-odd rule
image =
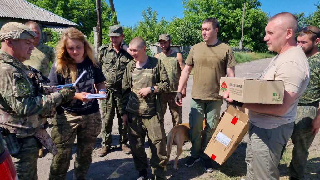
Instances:
[[[24,65],[34,67],[41,71],[44,76],[49,76],[49,62],[55,59],[54,50],[47,45],[39,43],[32,51],[30,59],[23,62]]]

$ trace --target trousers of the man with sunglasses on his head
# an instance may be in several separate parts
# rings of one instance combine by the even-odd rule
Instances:
[[[298,106],[295,117],[295,126],[291,135],[293,143],[292,159],[289,166],[291,176],[304,179],[304,170],[306,168],[309,147],[311,146],[315,135],[311,132],[311,122],[316,117],[319,104],[311,106]]]

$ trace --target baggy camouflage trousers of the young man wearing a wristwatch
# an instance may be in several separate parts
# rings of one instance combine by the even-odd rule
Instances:
[[[144,147],[147,133],[151,171],[156,176],[156,180],[167,179],[164,175],[167,151],[163,122],[159,122],[157,115],[145,117],[128,113],[128,117],[129,142],[136,170],[141,171],[149,166]]]

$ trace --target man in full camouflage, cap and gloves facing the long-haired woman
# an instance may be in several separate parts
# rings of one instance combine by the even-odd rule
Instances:
[[[34,50],[35,37],[21,23],[10,22],[0,30],[0,128],[20,180],[37,179],[41,144],[57,153],[44,122],[51,109],[68,102],[75,93],[71,88],[57,92],[45,86],[40,74],[22,64]]]

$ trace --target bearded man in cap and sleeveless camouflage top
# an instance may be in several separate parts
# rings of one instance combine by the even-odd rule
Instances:
[[[183,61],[181,53],[175,52],[171,49],[170,34],[160,35],[158,42],[160,43],[162,52],[156,54],[155,57],[161,59],[163,62],[170,80],[170,91],[162,94],[164,114],[167,110],[167,104],[169,104],[169,110],[172,116],[172,124],[173,126],[176,126],[182,123],[182,106],[177,106],[174,98],[178,91],[181,71],[184,69],[186,64]],[[181,98],[184,97],[186,97],[186,87],[182,90],[181,94]]]

